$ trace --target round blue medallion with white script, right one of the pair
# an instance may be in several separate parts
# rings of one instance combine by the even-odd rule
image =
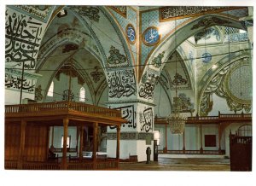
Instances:
[[[160,41],[160,34],[158,28],[155,26],[148,27],[143,32],[143,44],[147,46],[153,46]]]

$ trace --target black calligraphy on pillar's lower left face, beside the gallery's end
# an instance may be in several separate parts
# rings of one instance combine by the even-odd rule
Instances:
[[[135,123],[136,113],[134,112],[134,106],[129,105],[129,106],[120,107],[117,109],[121,109],[122,119],[128,120],[126,123],[122,124],[121,126],[122,127],[127,126],[128,128],[136,129],[137,124]],[[116,126],[110,126],[110,129],[114,129],[114,128],[116,128]]]

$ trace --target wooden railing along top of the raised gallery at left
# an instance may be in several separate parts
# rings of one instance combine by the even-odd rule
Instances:
[[[119,110],[100,108],[80,102],[44,102],[22,105],[6,105],[5,113],[37,113],[49,110],[76,110],[84,113],[102,114],[110,117],[121,117]]]

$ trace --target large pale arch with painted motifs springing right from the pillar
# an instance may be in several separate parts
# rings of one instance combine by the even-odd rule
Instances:
[[[168,56],[172,55],[172,53],[177,49],[177,46],[182,44],[186,39],[193,36],[196,32],[199,32],[210,26],[230,26],[237,27],[240,29],[244,29],[239,20],[234,18],[230,18],[225,15],[201,15],[199,17],[189,19],[185,25],[177,26],[176,29],[173,29],[169,34],[166,35],[165,38],[162,39],[160,44],[158,44],[149,54],[148,60],[146,61],[145,67],[143,69],[143,74],[140,78],[139,83],[139,91],[143,89],[143,83],[146,82],[145,73],[150,71],[154,72],[154,76],[159,76],[161,70],[166,64],[168,60]],[[187,33],[184,35],[183,33]],[[176,43],[177,45],[174,45]],[[155,60],[160,59],[160,67],[155,68],[153,64]],[[148,81],[150,77],[148,77]]]

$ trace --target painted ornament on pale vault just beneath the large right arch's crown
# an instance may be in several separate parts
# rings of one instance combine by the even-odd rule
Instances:
[[[195,44],[197,44],[197,42],[199,40],[201,40],[202,38],[207,40],[209,38],[212,37],[212,35],[216,38],[217,41],[220,41],[220,35],[219,35],[219,32],[216,28],[214,27],[209,27],[201,32],[197,32],[195,35],[194,35],[194,38],[195,38]]]

